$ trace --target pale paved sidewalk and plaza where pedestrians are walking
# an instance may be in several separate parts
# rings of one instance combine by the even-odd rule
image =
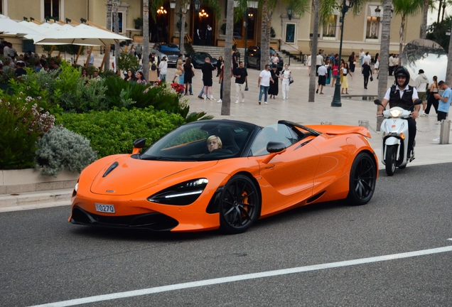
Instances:
[[[367,120],[370,124],[370,144],[375,149],[380,160],[380,169],[384,168],[381,162],[381,134],[377,133],[377,118],[375,113],[377,107],[370,100],[342,99],[342,107],[330,107],[333,99],[334,87],[327,85],[324,95],[316,94],[316,102],[308,102],[308,68],[304,65],[293,65],[291,67],[294,83],[290,86],[289,99],[283,100],[281,94],[281,83],[279,84],[279,95],[276,99],[269,99],[269,104],[258,104],[259,87],[257,79],[259,71],[248,69],[248,87],[245,92],[244,103],[235,104],[235,79],[232,78],[230,116],[222,116],[221,105],[215,101],[199,99],[198,94],[202,87],[201,72],[196,70],[193,80],[193,96],[188,97],[190,112],[206,112],[213,115],[215,119],[234,119],[244,122],[252,122],[260,126],[274,124],[280,119],[286,119],[300,124],[321,124],[331,122],[332,124],[357,125],[361,120]],[[173,80],[175,68],[168,68],[167,80]],[[368,90],[364,89],[363,78],[360,70],[353,73],[353,79],[348,78],[348,96],[377,95],[378,80],[370,82]],[[213,77],[212,94],[215,99],[220,99],[220,85],[218,78]],[[394,82],[393,77],[388,79],[388,87]],[[317,83],[317,82],[316,82]],[[452,162],[452,144],[440,145],[432,141],[439,136],[439,125],[436,114],[431,112],[429,117],[419,117],[416,134],[416,159],[409,164],[419,166],[434,163]],[[0,197],[0,212],[11,210],[23,210],[31,208],[43,208],[53,205],[70,205],[72,190],[52,190],[43,193],[21,193],[20,195],[6,195]],[[41,196],[36,195],[41,194]],[[55,196],[58,195],[58,196]],[[38,200],[36,200],[38,199]],[[47,200],[47,201],[46,201]],[[41,202],[41,203],[39,203]]]

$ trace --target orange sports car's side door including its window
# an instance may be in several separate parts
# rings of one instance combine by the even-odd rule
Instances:
[[[264,163],[269,141],[284,143],[286,151]],[[269,215],[313,195],[313,183],[320,161],[320,152],[310,141],[303,141],[284,125],[267,126],[257,135],[251,147],[252,156],[262,157],[259,163],[259,184],[262,187],[262,215]]]

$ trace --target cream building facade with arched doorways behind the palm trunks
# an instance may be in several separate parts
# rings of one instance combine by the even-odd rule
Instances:
[[[220,14],[216,18],[214,12],[207,4],[200,3],[199,11],[195,10],[194,1],[185,14],[185,33],[193,43],[211,45],[224,45],[227,1],[219,0]],[[360,14],[354,16],[351,11],[345,16],[343,55],[349,55],[352,51],[359,52],[361,48],[370,51],[373,55],[380,50],[382,31],[382,16],[378,14],[382,7],[380,1],[367,2]],[[2,14],[15,20],[23,20],[23,17],[33,17],[38,21],[45,18],[58,18],[65,21],[70,18],[80,22],[85,18],[99,26],[107,27],[107,0],[0,0]],[[142,35],[141,28],[136,29],[134,20],[142,18],[141,0],[124,0],[119,2],[119,32],[124,36],[134,38]],[[149,34],[151,42],[178,42],[178,27],[181,23],[181,4],[176,0],[176,8],[171,9],[170,1],[156,11],[156,18],[149,20]],[[289,18],[290,17],[290,18]],[[113,18],[112,18],[113,21]],[[244,23],[247,21],[247,23]],[[234,39],[237,46],[259,45],[262,16],[257,9],[257,1],[249,1],[249,11],[241,21],[234,26]],[[409,43],[420,36],[422,14],[409,16],[406,21],[406,33],[404,44]],[[246,26],[245,26],[246,24]],[[399,30],[401,18],[394,15],[391,21],[391,45],[390,53],[399,52]],[[210,39],[206,40],[208,25],[212,27]],[[285,5],[277,6],[271,17],[271,27],[274,29],[274,37],[271,43],[282,50],[289,52],[311,53],[311,39],[313,28],[313,15],[306,12],[303,16],[289,16]],[[200,40],[196,39],[200,34]],[[340,12],[330,16],[319,26],[318,48],[326,53],[338,53],[340,43]]]

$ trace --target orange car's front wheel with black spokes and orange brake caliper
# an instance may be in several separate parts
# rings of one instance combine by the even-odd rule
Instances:
[[[220,230],[227,234],[245,232],[260,212],[260,195],[254,183],[247,176],[232,177],[221,194]]]

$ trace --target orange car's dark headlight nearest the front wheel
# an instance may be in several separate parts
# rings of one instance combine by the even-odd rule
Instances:
[[[150,196],[147,200],[163,205],[190,205],[203,193],[208,182],[206,178],[185,181],[161,190]]]

